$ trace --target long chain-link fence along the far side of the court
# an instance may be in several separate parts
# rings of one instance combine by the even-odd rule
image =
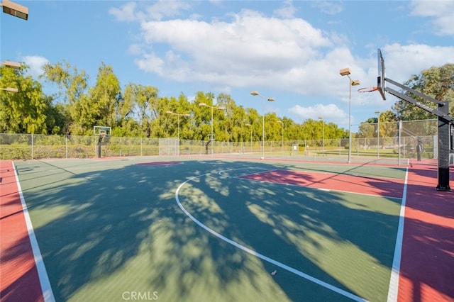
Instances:
[[[437,120],[365,123],[349,139],[218,142],[177,138],[117,138],[0,133],[1,160],[168,156],[295,157],[306,160],[436,158]],[[100,145],[99,145],[100,144]],[[99,147],[100,146],[100,147]]]

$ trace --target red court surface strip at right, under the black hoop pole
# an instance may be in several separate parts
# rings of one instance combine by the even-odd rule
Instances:
[[[454,192],[436,191],[436,162],[412,166],[398,301],[454,301]],[[451,167],[451,189],[453,178]]]

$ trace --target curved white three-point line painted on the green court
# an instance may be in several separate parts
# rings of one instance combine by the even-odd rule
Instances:
[[[283,264],[282,262],[278,262],[276,261],[275,259],[271,259],[270,257],[267,257],[265,255],[262,255],[260,254],[259,252],[255,252],[255,250],[251,250],[250,248],[248,247],[245,247],[244,245],[240,245],[238,242],[235,242],[231,239],[228,239],[227,237],[219,234],[219,233],[216,233],[216,231],[214,230],[211,230],[211,228],[207,227],[206,225],[204,225],[203,223],[201,223],[199,220],[197,220],[194,216],[191,215],[191,213],[189,213],[186,208],[184,208],[184,206],[182,206],[182,203],[179,202],[179,197],[178,197],[178,192],[179,192],[179,189],[182,188],[182,186],[184,186],[184,184],[187,184],[189,181],[192,181],[193,179],[197,179],[199,177],[204,177],[206,175],[209,175],[211,173],[206,173],[206,174],[202,174],[202,175],[199,175],[197,177],[192,177],[191,179],[188,179],[187,181],[184,181],[182,184],[179,185],[177,191],[175,191],[175,199],[177,200],[177,204],[179,206],[179,208],[182,209],[182,211],[184,212],[184,214],[186,214],[186,216],[188,216],[189,218],[191,218],[192,221],[194,221],[194,223],[196,223],[197,225],[199,225],[201,228],[204,228],[204,230],[208,231],[209,233],[211,233],[212,235],[218,237],[219,239],[235,246],[235,247],[238,247],[240,250],[243,250],[245,252],[248,252],[250,255],[254,255],[255,257],[258,257],[266,262],[270,262],[271,264],[275,264],[277,267],[280,267],[282,269],[285,269],[287,270],[288,272],[292,272],[293,274],[296,274],[297,276],[300,276],[306,280],[309,280],[311,282],[314,282],[315,284],[319,284],[320,286],[323,286],[324,288],[326,289],[330,289],[331,291],[334,291],[336,293],[339,293],[341,294],[342,296],[345,296],[345,297],[348,297],[354,301],[366,301],[365,299],[359,297],[359,296],[356,296],[354,295],[353,293],[349,293],[348,291],[344,291],[343,289],[339,289],[338,287],[336,286],[333,286],[331,284],[328,284],[324,281],[321,281],[319,279],[316,279],[315,277],[313,276],[309,276],[308,274],[305,274],[304,272],[300,272],[299,270],[297,269],[294,269],[293,267],[289,267],[288,265],[286,264]]]

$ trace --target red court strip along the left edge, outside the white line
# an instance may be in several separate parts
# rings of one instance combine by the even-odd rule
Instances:
[[[0,300],[44,301],[11,162],[0,162]]]

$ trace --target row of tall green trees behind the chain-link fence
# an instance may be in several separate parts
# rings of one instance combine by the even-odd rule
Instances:
[[[28,75],[27,70],[26,65],[21,69],[0,67],[0,87],[18,89],[17,93],[0,91],[1,133],[93,135],[94,125],[104,125],[111,127],[112,135],[118,137],[168,138],[179,135],[184,140],[209,140],[212,106],[223,107],[223,110],[213,109],[212,127],[216,140],[262,140],[263,117],[253,108],[237,106],[228,94],[215,96],[211,92],[199,91],[194,101],[189,101],[184,94],[160,96],[155,86],[128,83],[121,89],[113,68],[104,62],[99,66],[94,86],[89,86],[89,75],[64,61],[43,67],[39,80],[58,88],[57,93],[46,95],[40,81]],[[454,64],[423,70],[404,84],[434,99],[452,101]],[[426,104],[419,96],[409,95]],[[208,106],[199,106],[201,103]],[[450,107],[451,115],[453,108]],[[265,140],[321,140],[322,135],[326,140],[348,138],[348,130],[318,118],[309,118],[303,123],[295,123],[287,117],[279,118],[275,113],[266,113],[264,118]],[[400,100],[392,110],[363,123],[428,118],[434,116]],[[382,128],[380,133],[370,132],[369,128],[360,126],[355,136],[393,135]]]

